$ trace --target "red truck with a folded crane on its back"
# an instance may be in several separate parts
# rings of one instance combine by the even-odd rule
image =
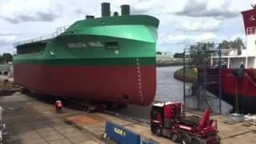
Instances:
[[[181,102],[159,102],[150,112],[150,129],[153,134],[165,136],[174,142],[183,144],[219,143],[217,122],[210,119],[210,110],[206,109],[202,118],[186,117]]]

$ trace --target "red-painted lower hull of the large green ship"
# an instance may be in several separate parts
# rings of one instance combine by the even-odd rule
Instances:
[[[147,106],[156,92],[156,68],[14,64],[14,82],[42,94]]]

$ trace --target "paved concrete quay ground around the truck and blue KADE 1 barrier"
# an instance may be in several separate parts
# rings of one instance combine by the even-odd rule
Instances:
[[[42,98],[42,97],[41,97]],[[159,143],[174,143],[167,138],[159,138],[150,133],[149,126],[133,122],[116,116],[102,113],[86,114],[82,110],[66,108],[62,114],[56,114],[54,105],[41,98],[15,93],[0,97],[0,106],[4,110],[3,120],[6,123],[6,132],[3,143],[113,143],[102,138],[105,122],[111,121],[124,126],[129,130],[141,134],[142,139],[151,139]],[[139,108],[139,107],[137,107]],[[120,113],[130,115],[140,114],[147,118],[149,108],[142,111],[136,106],[128,106]],[[133,111],[135,114],[133,114]],[[186,114],[198,114],[190,111]],[[242,123],[227,125],[223,123],[228,116],[216,115],[218,119],[219,135],[222,143],[255,143],[256,126],[242,126]]]

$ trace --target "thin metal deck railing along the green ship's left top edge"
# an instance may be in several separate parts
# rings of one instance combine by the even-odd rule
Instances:
[[[34,42],[42,42],[42,41],[50,40],[52,38],[57,37],[59,34],[64,33],[69,27],[70,26],[58,27],[53,34],[44,35],[44,36],[38,37],[38,38],[27,39],[27,40],[22,41],[22,42],[14,42],[14,47],[17,47],[17,46],[20,46],[20,45],[26,45],[26,44],[34,43]]]

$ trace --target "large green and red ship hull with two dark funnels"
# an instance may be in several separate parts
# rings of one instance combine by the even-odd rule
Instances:
[[[43,94],[149,105],[159,21],[121,7],[110,15],[104,2],[102,18],[86,16],[50,37],[14,43],[14,81]]]

